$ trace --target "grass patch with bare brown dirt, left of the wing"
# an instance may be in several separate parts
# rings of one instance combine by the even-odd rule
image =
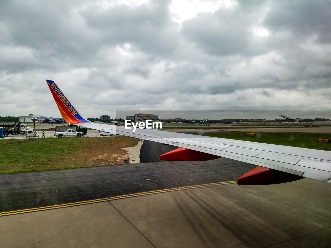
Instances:
[[[122,148],[139,139],[118,137],[0,140],[0,174],[123,164]]]

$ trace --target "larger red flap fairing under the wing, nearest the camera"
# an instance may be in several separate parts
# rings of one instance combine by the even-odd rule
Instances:
[[[262,166],[257,166],[255,169],[238,178],[239,185],[268,185],[268,184],[282,184],[296,180],[303,179],[303,177],[287,172],[268,169]]]

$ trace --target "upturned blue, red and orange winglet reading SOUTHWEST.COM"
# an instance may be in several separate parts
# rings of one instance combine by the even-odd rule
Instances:
[[[52,80],[46,79],[47,85],[54,97],[63,119],[69,124],[79,124],[90,122],[78,112],[78,110],[65,97],[63,91]]]

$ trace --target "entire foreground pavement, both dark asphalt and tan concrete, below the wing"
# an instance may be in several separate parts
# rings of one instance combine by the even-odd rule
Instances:
[[[145,142],[141,164],[0,175],[1,247],[329,247],[330,184],[239,186],[255,166],[226,158],[151,162],[173,148]]]

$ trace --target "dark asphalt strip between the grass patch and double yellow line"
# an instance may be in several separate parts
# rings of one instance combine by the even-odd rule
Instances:
[[[251,164],[219,158],[0,175],[0,212],[233,181],[253,168]]]

